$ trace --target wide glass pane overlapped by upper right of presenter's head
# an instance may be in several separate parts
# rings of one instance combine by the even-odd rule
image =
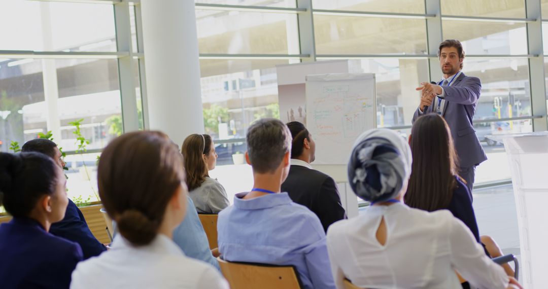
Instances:
[[[466,54],[527,54],[527,30],[523,23],[445,20],[442,26],[443,37],[459,39]]]

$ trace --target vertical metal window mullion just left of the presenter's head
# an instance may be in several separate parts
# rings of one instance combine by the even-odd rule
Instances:
[[[440,0],[425,0],[424,1],[426,14],[436,15],[435,17],[426,18],[426,41],[428,44],[428,54],[436,55],[429,57],[428,68],[430,79],[439,79],[442,77],[442,72],[439,69],[439,60],[437,58],[438,45],[443,41],[442,31],[442,8]]]

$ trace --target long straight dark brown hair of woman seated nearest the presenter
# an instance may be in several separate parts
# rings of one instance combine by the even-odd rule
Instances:
[[[409,140],[413,171],[406,204],[416,209],[447,209],[456,186],[456,153],[446,121],[436,113],[418,118]]]

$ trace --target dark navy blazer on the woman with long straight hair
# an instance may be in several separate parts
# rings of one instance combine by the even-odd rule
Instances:
[[[453,213],[455,218],[460,219],[463,223],[472,231],[472,234],[476,238],[476,241],[479,242],[479,231],[478,224],[476,222],[476,215],[472,207],[472,199],[470,199],[470,192],[468,187],[460,180],[459,177],[456,178],[456,188],[453,190],[453,197],[451,198],[451,203],[449,203],[449,210]]]

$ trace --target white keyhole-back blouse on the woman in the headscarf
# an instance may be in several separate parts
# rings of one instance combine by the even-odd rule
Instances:
[[[384,217],[385,245],[376,239]],[[479,288],[506,288],[509,278],[470,230],[447,210],[427,212],[404,204],[372,206],[332,224],[327,247],[337,288],[343,278],[361,288],[458,289],[459,271]]]

